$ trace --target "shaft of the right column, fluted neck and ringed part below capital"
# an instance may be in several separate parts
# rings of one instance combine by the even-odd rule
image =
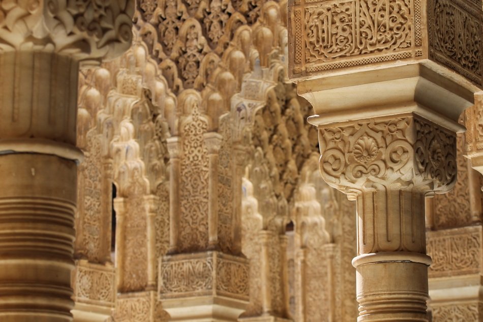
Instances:
[[[357,197],[359,321],[427,321],[424,205],[425,193],[407,190]]]

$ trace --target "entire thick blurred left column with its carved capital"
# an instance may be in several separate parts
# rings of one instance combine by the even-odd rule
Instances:
[[[134,4],[0,6],[0,320],[72,321],[79,65],[131,42]],[[99,9],[96,7],[96,10]],[[102,26],[102,27],[101,27]]]

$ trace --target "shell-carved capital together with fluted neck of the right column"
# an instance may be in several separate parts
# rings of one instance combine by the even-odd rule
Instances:
[[[413,205],[454,186],[456,135],[408,114],[320,126],[319,141],[325,182],[357,200],[358,254],[424,254],[424,212]]]

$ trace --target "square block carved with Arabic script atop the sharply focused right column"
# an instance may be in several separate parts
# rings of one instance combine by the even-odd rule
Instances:
[[[291,0],[289,72],[301,78],[423,63],[481,86],[481,6],[480,0]]]

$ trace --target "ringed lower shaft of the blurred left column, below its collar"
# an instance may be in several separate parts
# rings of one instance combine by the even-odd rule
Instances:
[[[76,164],[8,154],[0,175],[0,319],[71,321]]]

